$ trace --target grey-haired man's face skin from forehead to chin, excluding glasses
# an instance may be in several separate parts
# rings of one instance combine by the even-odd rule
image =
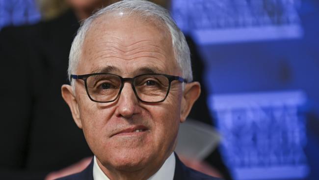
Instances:
[[[150,72],[182,75],[167,30],[137,17],[117,15],[98,18],[85,38],[77,74],[97,72],[124,78]],[[161,165],[176,143],[182,93],[182,84],[173,81],[164,102],[143,103],[126,82],[116,101],[96,103],[88,98],[83,81],[77,81],[78,125],[108,169],[136,171]],[[137,129],[142,131],[134,132]]]

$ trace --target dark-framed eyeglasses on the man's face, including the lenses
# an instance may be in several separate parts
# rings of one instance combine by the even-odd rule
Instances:
[[[179,76],[167,74],[142,74],[133,78],[122,78],[109,73],[71,75],[71,79],[84,81],[85,90],[94,102],[112,102],[121,94],[124,82],[129,81],[138,100],[142,102],[163,102],[169,92],[172,81],[186,82]]]

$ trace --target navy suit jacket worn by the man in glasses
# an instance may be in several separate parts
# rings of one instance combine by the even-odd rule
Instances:
[[[176,165],[173,180],[221,180],[214,178],[191,168],[188,168],[181,162],[178,156],[175,154]],[[89,166],[85,168],[82,172],[60,178],[58,180],[93,180],[93,159]]]

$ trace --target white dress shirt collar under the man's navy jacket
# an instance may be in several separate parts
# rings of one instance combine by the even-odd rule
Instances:
[[[160,170],[151,176],[148,180],[173,180],[175,172],[175,155],[174,152],[165,160]],[[93,164],[93,179],[94,180],[109,180],[103,173],[102,169],[96,161],[94,156]]]

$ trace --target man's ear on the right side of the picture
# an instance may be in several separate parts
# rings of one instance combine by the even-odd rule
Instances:
[[[184,122],[193,107],[194,102],[197,100],[201,93],[201,87],[198,82],[191,82],[185,84],[185,89],[182,97],[181,104],[181,122]]]

